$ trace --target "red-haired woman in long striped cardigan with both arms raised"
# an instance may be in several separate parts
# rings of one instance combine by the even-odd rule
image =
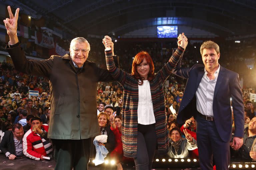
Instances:
[[[178,37],[178,48],[156,74],[150,55],[139,52],[132,63],[132,74],[117,68],[112,51],[113,42],[105,36],[107,69],[124,88],[122,110],[122,142],[124,156],[132,157],[137,169],[151,169],[156,147],[158,154],[168,152],[168,131],[163,84],[172,73],[184,49],[187,38]],[[111,49],[110,49],[111,48]]]

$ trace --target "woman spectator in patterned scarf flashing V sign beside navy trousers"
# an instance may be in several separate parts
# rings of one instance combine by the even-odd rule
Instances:
[[[196,140],[184,130],[187,140],[181,139],[181,131],[179,128],[172,128],[170,130],[170,143],[168,155],[171,158],[188,158],[188,150],[194,150],[197,148]]]

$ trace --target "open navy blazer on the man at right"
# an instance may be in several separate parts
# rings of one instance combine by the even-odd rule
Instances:
[[[182,68],[181,60],[173,69],[173,73],[182,78],[186,78],[187,84],[184,95],[180,103],[177,116],[179,124],[184,123],[191,116],[197,116],[196,91],[204,75],[204,65],[195,64],[191,68]],[[235,136],[243,137],[244,134],[244,105],[239,75],[236,72],[220,66],[213,97],[213,115],[217,131],[221,139],[225,142],[232,137],[232,107],[235,122]]]

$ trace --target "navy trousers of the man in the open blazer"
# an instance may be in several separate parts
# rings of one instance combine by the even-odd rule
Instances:
[[[196,137],[199,163],[202,170],[213,169],[213,159],[217,170],[228,170],[230,163],[229,141],[224,142],[216,129],[214,121],[197,116]]]

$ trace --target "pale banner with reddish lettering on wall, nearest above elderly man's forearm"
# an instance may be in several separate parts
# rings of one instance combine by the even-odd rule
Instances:
[[[45,48],[54,48],[53,37],[35,31],[35,44]]]

